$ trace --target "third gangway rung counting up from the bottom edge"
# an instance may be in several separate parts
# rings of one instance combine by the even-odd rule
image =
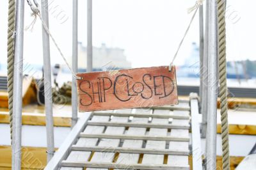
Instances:
[[[179,136],[160,136],[160,135],[111,135],[111,134],[85,134],[81,133],[80,137],[88,138],[106,138],[106,139],[135,139],[135,140],[152,140],[152,141],[189,141],[189,137]]]

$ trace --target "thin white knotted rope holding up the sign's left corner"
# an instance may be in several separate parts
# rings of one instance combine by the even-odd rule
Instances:
[[[30,0],[27,0],[31,10],[32,10],[32,16],[35,17],[35,19],[31,22],[31,24],[29,24],[28,27],[26,27],[26,30],[29,29],[31,27],[31,29],[33,29],[33,26],[35,25],[35,22],[36,22],[36,16],[39,17],[39,19],[41,20],[42,22],[42,25],[44,26],[44,29],[46,31],[46,33],[51,37],[52,39],[52,42],[54,43],[55,47],[57,48],[57,50],[60,52],[60,55],[62,57],[62,59],[65,61],[65,64],[68,66],[68,69],[70,70],[70,72],[72,73],[72,76],[75,78],[75,79],[78,79],[78,80],[81,80],[82,77],[78,77],[76,75],[76,73],[73,72],[72,68],[70,65],[68,65],[68,62],[67,62],[67,59],[65,58],[65,56],[63,55],[63,53],[61,52],[61,49],[59,47],[59,45],[57,44],[56,40],[53,38],[49,28],[47,27],[47,25],[45,24],[44,20],[42,19],[41,15],[40,15],[40,10],[38,8],[38,3],[36,2],[36,0],[34,0],[34,3],[36,4],[36,7],[33,6],[33,4],[31,3]]]

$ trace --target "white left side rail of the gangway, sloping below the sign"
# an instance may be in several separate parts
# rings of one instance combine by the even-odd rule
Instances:
[[[86,122],[88,121],[88,118],[90,118],[91,115],[92,113],[90,112],[86,114],[86,116],[79,118],[76,125],[72,128],[72,131],[68,134],[63,144],[61,144],[60,148],[55,153],[54,157],[47,163],[45,170],[58,169],[58,166],[60,166],[61,161],[67,158],[72,144],[76,142],[78,135],[86,127]]]

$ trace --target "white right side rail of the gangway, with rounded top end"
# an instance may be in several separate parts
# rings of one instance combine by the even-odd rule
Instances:
[[[190,106],[191,106],[191,129],[192,129],[192,155],[193,155],[193,169],[202,169],[202,150],[201,150],[201,139],[200,139],[200,124],[198,118],[198,100],[197,95],[190,95]]]

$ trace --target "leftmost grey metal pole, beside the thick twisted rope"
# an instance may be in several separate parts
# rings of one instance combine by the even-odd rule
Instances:
[[[22,70],[23,70],[23,30],[24,0],[16,1],[16,36],[13,70],[13,141],[12,169],[21,169],[21,116],[22,116]]]

